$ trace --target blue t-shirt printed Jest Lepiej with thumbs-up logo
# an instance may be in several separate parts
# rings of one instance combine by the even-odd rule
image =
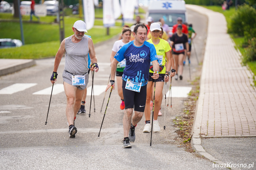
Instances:
[[[133,41],[117,51],[114,58],[119,62],[126,60],[122,77],[124,81],[129,78],[133,82],[142,82],[141,86],[144,86],[149,77],[150,61],[158,60],[158,57],[153,44],[145,41],[142,46],[136,47]]]

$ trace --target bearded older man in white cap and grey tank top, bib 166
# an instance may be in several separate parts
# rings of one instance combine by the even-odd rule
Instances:
[[[57,80],[57,70],[61,58],[65,53],[65,66],[62,74],[63,85],[67,97],[66,116],[69,125],[69,137],[75,137],[77,128],[74,126],[77,111],[88,84],[88,53],[90,54],[93,70],[98,72],[97,58],[94,51],[93,41],[85,36],[86,24],[78,20],[72,27],[74,35],[65,38],[55,56],[53,74],[50,81],[55,83]]]

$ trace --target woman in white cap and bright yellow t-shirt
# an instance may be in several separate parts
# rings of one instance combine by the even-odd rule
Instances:
[[[160,110],[161,106],[161,101],[162,101],[162,91],[163,91],[163,85],[164,82],[169,81],[169,76],[170,76],[170,69],[171,69],[171,47],[169,43],[161,38],[159,38],[161,31],[160,24],[158,23],[152,23],[150,25],[150,34],[152,35],[152,38],[149,39],[147,42],[150,42],[154,44],[155,49],[156,49],[156,54],[158,56],[158,62],[159,62],[159,78],[156,79],[156,85],[155,88],[157,89],[155,91],[155,106],[154,106],[154,112],[158,113]],[[167,63],[166,63],[167,62]],[[166,66],[165,66],[166,65]],[[145,118],[146,118],[146,125],[144,126],[143,132],[150,132],[151,131],[151,125],[150,125],[150,101],[151,101],[151,96],[154,94],[152,91],[152,88],[154,87],[154,82],[151,76],[153,75],[154,70],[153,67],[150,65],[150,70],[149,70],[149,79],[148,79],[148,84],[147,84],[147,100],[146,100],[146,106],[144,110]],[[173,69],[172,72],[175,72]],[[174,73],[172,73],[172,76]],[[154,88],[153,88],[154,89]],[[153,119],[153,131],[154,132],[160,132],[160,127],[158,123],[158,114],[154,114],[154,119]]]

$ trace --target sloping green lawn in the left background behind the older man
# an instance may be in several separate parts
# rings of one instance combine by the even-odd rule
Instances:
[[[1,14],[6,18],[10,17],[10,14]],[[25,16],[29,17],[29,16]],[[27,18],[28,19],[28,18]],[[40,18],[40,22],[44,19]],[[23,22],[23,32],[25,45],[18,48],[1,48],[0,58],[5,59],[38,59],[49,56],[55,56],[60,46],[59,41],[59,25],[56,23],[50,23],[52,16],[47,16],[43,20],[44,23],[37,22]],[[66,16],[64,18],[64,31],[65,37],[69,37],[74,34],[72,26],[78,18],[74,16]],[[121,22],[117,22],[118,26],[110,27],[109,35],[106,35],[107,29],[103,27],[102,20],[95,20],[95,26],[88,30],[87,35],[92,36],[93,43],[96,44],[101,41],[108,40],[109,38],[119,34],[122,26]],[[12,38],[21,39],[20,23],[18,20],[12,22],[0,22],[0,38]]]

